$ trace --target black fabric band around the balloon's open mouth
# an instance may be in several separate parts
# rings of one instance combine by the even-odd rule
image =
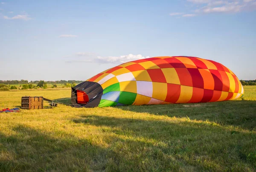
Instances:
[[[89,102],[86,104],[79,104],[77,102],[77,90],[83,91],[87,94]],[[71,102],[74,107],[97,107],[101,100],[103,89],[97,82],[85,81],[72,87]]]

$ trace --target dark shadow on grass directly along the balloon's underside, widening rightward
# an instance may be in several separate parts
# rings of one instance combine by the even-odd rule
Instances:
[[[256,130],[256,101],[224,101],[195,104],[165,104],[115,107],[138,113],[166,115],[169,117],[189,117],[209,120],[221,125],[233,125]]]

